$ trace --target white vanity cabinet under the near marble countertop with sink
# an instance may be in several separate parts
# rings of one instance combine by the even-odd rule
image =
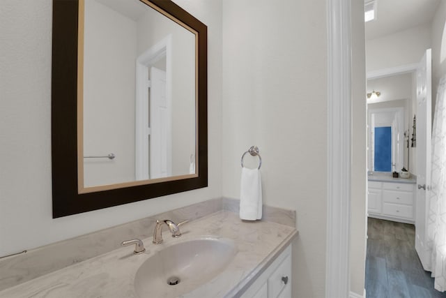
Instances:
[[[243,293],[242,298],[291,298],[291,244]]]

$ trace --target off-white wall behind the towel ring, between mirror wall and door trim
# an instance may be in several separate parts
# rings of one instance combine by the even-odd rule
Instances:
[[[264,204],[297,211],[293,297],[325,297],[326,52],[325,1],[223,2],[222,193],[258,146]]]

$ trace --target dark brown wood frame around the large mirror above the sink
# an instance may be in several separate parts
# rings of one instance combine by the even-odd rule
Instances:
[[[52,203],[53,218],[208,186],[207,27],[170,0],[148,0],[198,33],[198,177],[78,193],[77,28],[78,0],[53,0]]]

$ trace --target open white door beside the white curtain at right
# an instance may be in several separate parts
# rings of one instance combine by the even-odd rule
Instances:
[[[426,251],[426,221],[431,185],[431,49],[426,50],[417,68],[416,113],[417,188],[415,217],[415,250],[423,267],[429,264]]]

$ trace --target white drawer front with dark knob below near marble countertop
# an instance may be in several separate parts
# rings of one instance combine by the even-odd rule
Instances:
[[[291,254],[286,256],[268,278],[268,298],[279,297],[286,287],[291,288]]]

